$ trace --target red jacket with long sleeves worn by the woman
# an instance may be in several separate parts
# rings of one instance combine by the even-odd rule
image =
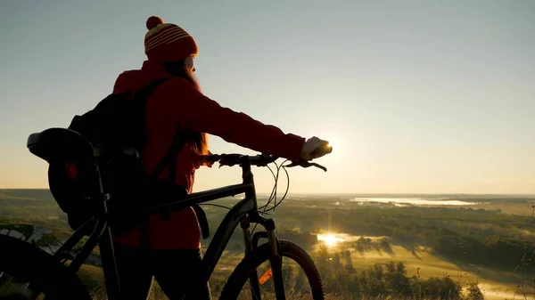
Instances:
[[[155,79],[169,77],[161,64],[144,61],[143,67],[123,72],[117,78],[113,93],[136,91]],[[171,78],[149,97],[146,104],[145,125],[147,143],[142,160],[147,173],[168,152],[177,126],[195,132],[213,134],[226,142],[282,158],[298,159],[305,139],[284,134],[276,126],[267,126],[253,118],[221,107],[183,78]],[[193,190],[195,170],[201,166],[191,146],[185,145],[177,157],[177,183],[189,193]],[[161,174],[168,176],[168,168]],[[114,240],[138,247],[140,231],[136,228]],[[152,248],[199,248],[200,230],[193,208],[188,207],[171,214],[170,219],[152,215],[150,223]]]

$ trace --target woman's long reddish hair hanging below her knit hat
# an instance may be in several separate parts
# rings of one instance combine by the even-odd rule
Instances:
[[[193,71],[190,69],[185,69],[184,61],[165,62],[163,64],[163,67],[170,75],[174,77],[184,78],[190,84],[192,84],[199,92],[201,92],[201,85],[199,85],[197,78],[193,75]],[[208,134],[197,133],[193,131],[188,131],[185,134],[187,134],[188,136],[187,142],[191,142],[195,153],[197,153],[198,155],[208,154]]]

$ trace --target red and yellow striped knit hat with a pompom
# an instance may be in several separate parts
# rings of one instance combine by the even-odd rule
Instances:
[[[144,38],[145,54],[149,60],[158,62],[182,61],[188,56],[197,56],[199,48],[183,28],[164,23],[160,17],[152,16],[147,20]]]

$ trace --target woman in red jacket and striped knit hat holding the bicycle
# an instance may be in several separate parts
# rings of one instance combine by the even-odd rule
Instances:
[[[198,53],[193,37],[175,24],[163,23],[159,17],[149,18],[146,25],[149,31],[144,46],[148,60],[141,69],[120,74],[113,93],[135,93],[156,79],[169,78],[146,103],[142,159],[147,173],[152,173],[168,152],[177,128],[193,133],[177,155],[175,170],[177,185],[187,193],[192,192],[195,170],[204,165],[202,155],[209,153],[207,134],[290,159],[311,159],[311,153],[327,143],[316,137],[305,141],[300,136],[284,134],[276,126],[219,106],[201,93],[193,77],[193,59]],[[166,169],[161,178],[168,176]],[[182,299],[185,288],[193,287],[201,276],[200,230],[193,208],[151,216],[148,257],[142,257],[140,236],[138,227],[114,237],[122,298],[146,299],[155,277],[170,299]],[[210,299],[210,288],[203,284],[195,295],[187,296]]]

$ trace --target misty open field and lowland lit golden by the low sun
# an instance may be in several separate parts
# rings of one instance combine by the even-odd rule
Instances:
[[[477,283],[486,299],[524,296],[535,299],[535,264],[530,259],[535,253],[535,218],[531,211],[535,198],[450,196],[444,200],[444,196],[436,196],[434,199],[439,198],[446,202],[423,205],[423,200],[432,199],[417,196],[381,196],[374,201],[369,196],[293,195],[276,208],[273,216],[279,237],[305,247],[325,281],[336,278],[340,266],[346,269],[351,264],[354,275],[350,276],[359,276],[377,264],[386,266],[394,262],[403,263],[407,278],[414,282],[449,278],[461,288]],[[418,199],[420,204],[410,199]],[[232,206],[237,200],[220,199],[214,203]],[[205,210],[213,236],[226,210],[218,207],[205,207]],[[33,237],[40,247],[50,249],[71,232],[65,215],[48,191],[0,191],[0,233],[14,231],[21,231],[26,239]],[[330,239],[319,241],[318,235]],[[210,239],[203,240],[203,248],[209,243]],[[214,296],[243,257],[242,245],[237,230],[210,280]],[[93,258],[78,275],[98,295],[103,292],[98,251]],[[349,298],[355,292],[342,290],[343,285],[337,284],[325,282],[325,287],[329,293],[343,294],[340,299]],[[350,286],[349,282],[346,288]],[[388,288],[384,292],[390,293]],[[162,298],[159,288],[153,288],[152,294],[152,299]],[[364,286],[359,295],[369,296]]]

